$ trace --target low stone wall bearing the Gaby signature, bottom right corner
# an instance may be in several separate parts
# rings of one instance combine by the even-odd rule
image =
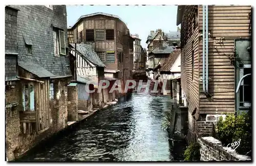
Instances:
[[[223,147],[221,141],[214,137],[200,137],[198,142],[201,146],[201,161],[251,160],[249,156],[237,154],[233,149]]]

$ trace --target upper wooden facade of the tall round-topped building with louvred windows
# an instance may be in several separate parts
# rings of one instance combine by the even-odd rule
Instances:
[[[129,58],[129,51],[124,52],[124,47],[129,47],[130,40],[125,40],[124,35],[130,36],[130,33],[123,21],[116,16],[92,14],[79,19],[72,29],[73,42],[91,43],[106,70],[113,73],[122,70],[122,60]],[[133,63],[133,59],[130,61]]]

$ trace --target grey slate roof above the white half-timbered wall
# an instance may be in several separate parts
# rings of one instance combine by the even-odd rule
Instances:
[[[75,43],[70,43],[70,45],[75,48]],[[77,43],[76,51],[95,66],[105,67],[90,44]]]

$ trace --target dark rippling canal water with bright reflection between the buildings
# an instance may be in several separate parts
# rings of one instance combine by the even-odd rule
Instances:
[[[123,99],[123,98],[122,98]],[[54,137],[19,161],[180,161],[184,141],[161,129],[169,96],[133,93]]]

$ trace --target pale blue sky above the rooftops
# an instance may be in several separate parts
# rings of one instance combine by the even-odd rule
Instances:
[[[150,31],[177,31],[177,6],[103,6],[67,5],[68,26],[73,26],[81,15],[103,12],[119,16],[127,25],[130,34],[138,34],[141,45],[146,48]]]

